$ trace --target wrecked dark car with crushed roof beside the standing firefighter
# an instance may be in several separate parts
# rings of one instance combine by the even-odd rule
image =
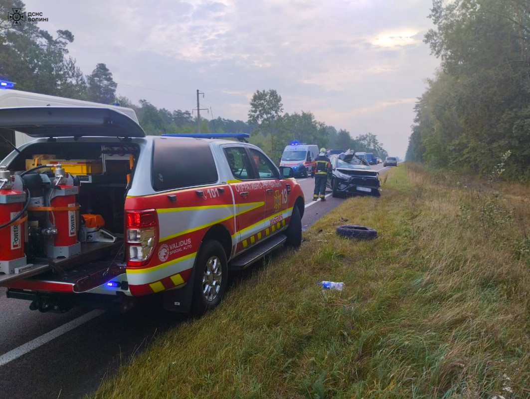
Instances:
[[[372,170],[364,159],[355,156],[352,150],[331,155],[333,167],[328,175],[328,187],[333,197],[365,195],[379,197],[379,173]]]

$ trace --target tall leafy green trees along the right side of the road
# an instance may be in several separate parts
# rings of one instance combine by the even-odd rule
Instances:
[[[424,41],[441,67],[414,107],[407,159],[530,179],[530,2],[432,4]]]

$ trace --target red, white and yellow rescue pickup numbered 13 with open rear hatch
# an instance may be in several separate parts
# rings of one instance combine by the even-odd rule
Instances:
[[[32,309],[124,311],[160,293],[202,313],[229,272],[301,244],[293,170],[245,135],[145,136],[115,108],[0,109],[0,128],[34,138],[0,163],[0,285]]]

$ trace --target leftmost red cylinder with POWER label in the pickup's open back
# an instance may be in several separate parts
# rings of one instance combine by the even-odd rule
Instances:
[[[24,255],[23,215],[26,194],[13,190],[11,173],[0,169],[0,272],[12,274],[27,264]]]

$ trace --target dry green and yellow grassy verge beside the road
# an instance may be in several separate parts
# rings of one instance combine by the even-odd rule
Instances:
[[[530,196],[504,189],[393,168],[92,397],[530,397]]]

